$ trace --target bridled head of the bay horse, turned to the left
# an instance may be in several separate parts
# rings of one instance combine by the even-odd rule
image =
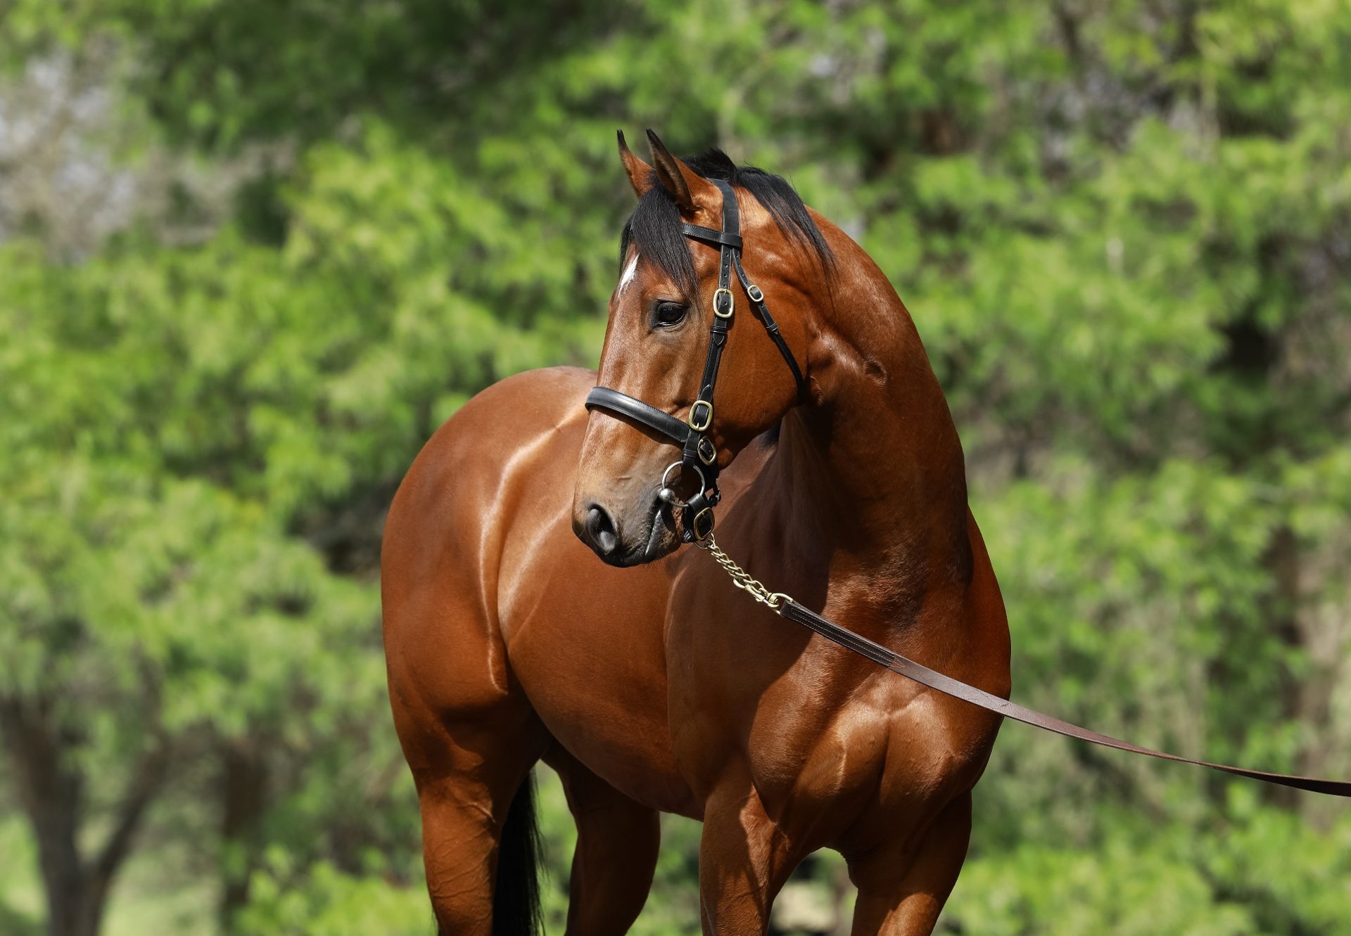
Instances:
[[[786,181],[719,150],[678,159],[647,138],[651,165],[619,134],[638,207],[573,497],[574,532],[615,566],[704,539],[717,474],[807,401],[812,308],[831,262]]]

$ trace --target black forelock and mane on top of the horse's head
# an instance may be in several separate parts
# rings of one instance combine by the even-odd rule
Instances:
[[[685,157],[681,162],[704,178],[720,178],[746,189],[765,207],[784,236],[813,251],[823,266],[834,262],[831,249],[807,212],[807,205],[782,176],[771,176],[755,166],[738,166],[725,153],[716,149]],[[680,224],[676,200],[654,180],[624,224],[624,234],[619,240],[620,267],[628,257],[630,244],[636,244],[638,251],[670,276],[686,296],[693,296],[697,286],[694,262]]]

